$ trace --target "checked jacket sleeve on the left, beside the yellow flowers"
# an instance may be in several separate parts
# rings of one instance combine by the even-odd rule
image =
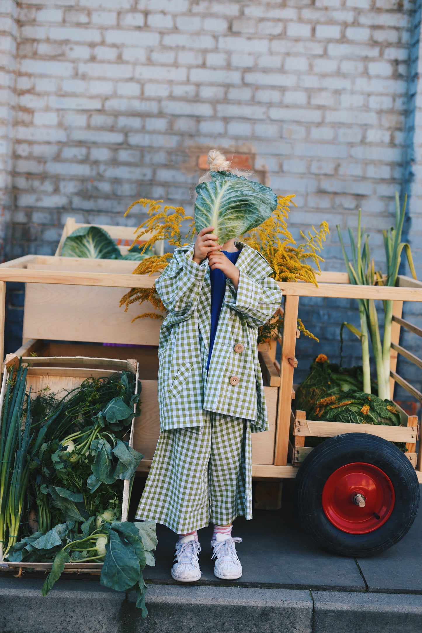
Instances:
[[[170,264],[156,280],[157,294],[169,315],[175,316],[175,322],[192,315],[204,282],[208,260],[199,265],[193,255],[193,244],[188,251],[175,251]]]

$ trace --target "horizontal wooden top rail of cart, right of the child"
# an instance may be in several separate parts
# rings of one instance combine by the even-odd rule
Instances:
[[[294,297],[331,297],[334,299],[392,299],[397,301],[422,301],[422,288],[398,288],[395,286],[354,284],[313,284],[303,282],[278,282],[283,294]]]

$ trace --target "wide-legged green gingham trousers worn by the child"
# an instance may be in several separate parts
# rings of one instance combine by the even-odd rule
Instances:
[[[137,520],[177,534],[252,518],[251,423],[204,411],[200,427],[161,431]]]

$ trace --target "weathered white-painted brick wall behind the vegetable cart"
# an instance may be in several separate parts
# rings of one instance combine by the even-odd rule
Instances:
[[[219,146],[251,153],[277,193],[296,195],[294,235],[328,220],[326,268],[344,268],[335,225],[356,227],[359,207],[381,263],[394,192],[410,186],[418,11],[411,0],[23,1],[8,257],[53,253],[69,215],[135,225],[123,212],[137,197],[191,208],[197,155]],[[422,251],[419,275],[421,263]],[[309,308],[328,345],[334,304]],[[350,303],[337,320],[353,315]],[[358,361],[354,343],[346,354]]]

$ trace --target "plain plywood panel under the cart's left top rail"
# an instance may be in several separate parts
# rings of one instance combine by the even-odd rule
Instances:
[[[144,318],[150,303],[119,308],[125,288],[27,284],[23,315],[25,339],[158,345],[161,320]]]

